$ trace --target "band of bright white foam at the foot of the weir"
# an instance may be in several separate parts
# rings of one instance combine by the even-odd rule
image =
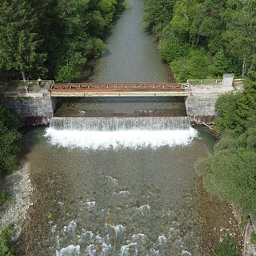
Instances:
[[[189,130],[170,131],[68,131],[48,127],[45,132],[52,145],[94,150],[188,145],[196,135],[197,131],[192,127]]]

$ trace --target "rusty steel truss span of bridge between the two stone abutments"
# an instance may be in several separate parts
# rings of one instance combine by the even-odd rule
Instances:
[[[84,83],[51,84],[53,97],[186,96],[189,86],[180,83]]]

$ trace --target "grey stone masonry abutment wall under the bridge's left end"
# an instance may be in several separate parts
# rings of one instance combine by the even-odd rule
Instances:
[[[57,98],[9,98],[12,109],[25,117],[26,125],[49,125]]]

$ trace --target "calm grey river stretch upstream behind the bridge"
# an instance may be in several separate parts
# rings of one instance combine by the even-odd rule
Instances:
[[[93,72],[79,82],[173,82],[171,69],[159,60],[157,42],[143,29],[142,0],[129,0],[106,35],[107,53],[94,62]]]

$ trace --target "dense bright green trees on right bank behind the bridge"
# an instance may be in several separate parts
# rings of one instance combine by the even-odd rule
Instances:
[[[253,1],[145,2],[146,28],[161,39],[159,55],[180,81],[223,73],[245,76],[255,65]],[[161,15],[157,15],[159,12]],[[202,68],[196,70],[201,60]]]

